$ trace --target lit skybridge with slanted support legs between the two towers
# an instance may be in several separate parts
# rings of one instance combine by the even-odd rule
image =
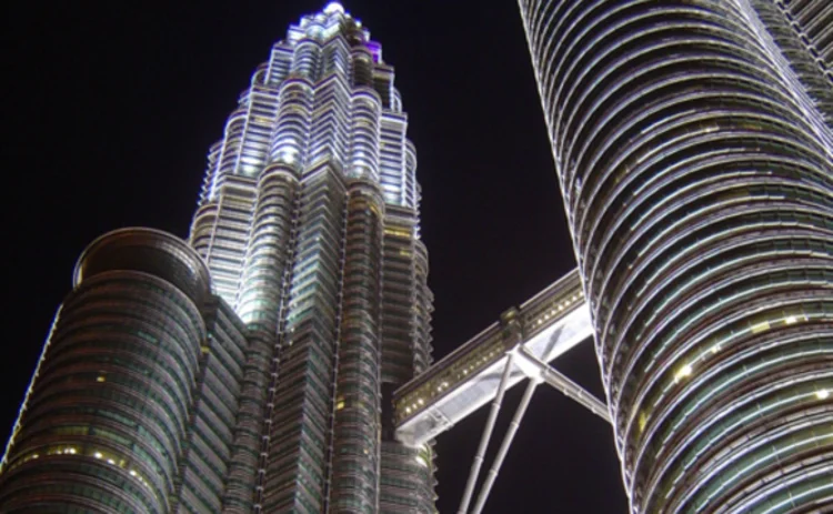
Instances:
[[[458,514],[480,513],[532,393],[546,383],[610,422],[606,405],[550,364],[573,346],[591,340],[590,308],[573,270],[434,363],[393,395],[397,439],[421,446],[484,404],[492,406],[474,456]],[[474,485],[508,389],[529,380],[494,463],[469,511]]]

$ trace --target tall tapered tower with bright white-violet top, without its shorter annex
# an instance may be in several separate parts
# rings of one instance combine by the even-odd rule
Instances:
[[[432,502],[432,460],[380,437],[382,391],[430,363],[416,158],[393,77],[331,3],[272,48],[209,155],[190,239],[272,363],[258,377],[267,512]]]

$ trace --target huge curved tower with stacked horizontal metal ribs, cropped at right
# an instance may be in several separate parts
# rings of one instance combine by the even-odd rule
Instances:
[[[832,4],[519,3],[632,512],[833,508]]]

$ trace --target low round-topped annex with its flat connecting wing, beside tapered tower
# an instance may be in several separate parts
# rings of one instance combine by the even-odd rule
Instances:
[[[251,512],[253,475],[233,473],[250,344],[202,259],[123,229],[87,248],[73,285],[3,457],[0,512]]]

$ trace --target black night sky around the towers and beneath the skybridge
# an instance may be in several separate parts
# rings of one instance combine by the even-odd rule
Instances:
[[[2,434],[78,254],[120,226],[187,235],[205,153],[238,93],[289,23],[323,3],[3,9]],[[397,67],[418,149],[442,357],[574,265],[518,7],[511,0],[344,3]],[[590,345],[558,367],[601,396]],[[496,436],[520,393],[508,394]],[[438,441],[442,513],[456,511],[485,415],[483,409]],[[490,463],[491,453],[484,471]],[[485,512],[625,511],[610,427],[539,387]]]

